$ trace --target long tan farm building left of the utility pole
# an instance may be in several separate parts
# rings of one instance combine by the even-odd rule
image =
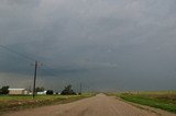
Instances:
[[[9,94],[29,94],[30,92],[25,89],[9,89]]]

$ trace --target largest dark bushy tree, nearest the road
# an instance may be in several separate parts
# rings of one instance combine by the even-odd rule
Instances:
[[[62,95],[76,95],[76,93],[74,92],[74,90],[72,90],[72,85],[68,84],[67,86],[65,86],[65,89],[62,91],[61,93]]]

